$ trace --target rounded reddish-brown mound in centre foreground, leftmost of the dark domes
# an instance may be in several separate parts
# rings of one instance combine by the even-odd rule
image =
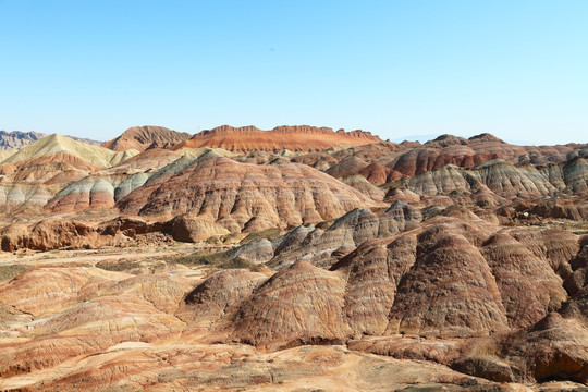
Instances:
[[[344,291],[335,274],[298,261],[255,290],[225,328],[254,345],[341,341],[352,333],[342,311]]]

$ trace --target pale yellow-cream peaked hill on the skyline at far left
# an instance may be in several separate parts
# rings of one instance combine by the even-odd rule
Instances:
[[[53,134],[37,140],[10,156],[2,163],[20,163],[56,155],[71,155],[95,167],[108,168],[138,154],[137,150],[111,151],[108,148],[76,142],[70,137]]]

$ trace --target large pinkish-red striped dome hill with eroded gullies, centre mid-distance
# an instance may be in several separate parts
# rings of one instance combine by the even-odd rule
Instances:
[[[377,206],[352,187],[304,164],[240,163],[212,152],[186,158],[181,166],[176,162],[121,199],[121,212],[189,212],[240,232],[319,222],[356,207]]]

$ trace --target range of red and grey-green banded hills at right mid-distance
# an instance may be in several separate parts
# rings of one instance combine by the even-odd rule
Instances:
[[[364,145],[298,155],[292,161],[309,164],[354,184],[371,197],[378,193],[358,180],[425,198],[449,197],[463,203],[505,203],[560,195],[584,195],[588,145],[515,146],[489,134],[469,139],[442,135],[424,145]],[[384,199],[390,200],[387,196]]]

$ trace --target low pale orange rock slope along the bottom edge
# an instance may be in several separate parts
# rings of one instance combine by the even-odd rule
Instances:
[[[245,345],[119,344],[37,379],[0,380],[22,391],[131,390],[225,391],[517,391],[436,364],[396,360],[344,346],[304,346],[260,353]]]

